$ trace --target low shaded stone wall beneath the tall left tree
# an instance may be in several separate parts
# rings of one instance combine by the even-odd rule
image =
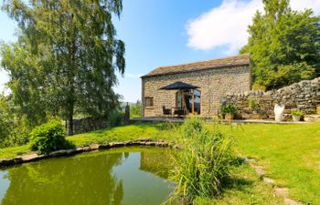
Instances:
[[[73,119],[73,134],[85,133],[100,128],[108,128],[108,123],[104,119],[79,118]],[[66,130],[69,130],[69,121],[67,121]],[[69,135],[69,133],[67,133]]]

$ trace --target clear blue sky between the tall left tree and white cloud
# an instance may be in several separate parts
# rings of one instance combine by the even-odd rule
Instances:
[[[123,15],[117,22],[118,36],[126,45],[126,74],[115,90],[124,100],[141,95],[140,76],[155,67],[175,65],[217,56],[217,50],[200,51],[187,46],[187,22],[220,1],[124,0]]]

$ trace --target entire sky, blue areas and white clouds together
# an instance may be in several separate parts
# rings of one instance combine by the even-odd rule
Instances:
[[[292,0],[294,10],[320,0]],[[114,90],[125,102],[141,98],[141,76],[160,66],[233,56],[247,43],[247,28],[261,0],[123,0],[120,19],[113,19],[126,47],[126,70]],[[16,23],[0,11],[0,40],[16,41]],[[8,75],[0,67],[0,91]]]

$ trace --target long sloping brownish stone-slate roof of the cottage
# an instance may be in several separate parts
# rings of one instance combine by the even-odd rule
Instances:
[[[221,67],[237,67],[237,66],[249,66],[250,56],[248,54],[239,56],[228,56],[218,59],[211,59],[206,61],[199,61],[188,64],[181,64],[169,67],[157,67],[150,73],[144,75],[144,77],[164,76],[177,73],[195,72],[199,70],[221,68]]]

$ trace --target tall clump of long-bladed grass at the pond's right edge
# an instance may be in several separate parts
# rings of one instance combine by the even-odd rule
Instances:
[[[192,204],[197,198],[219,195],[230,177],[234,159],[231,139],[219,131],[208,131],[202,118],[187,119],[181,134],[183,149],[176,154],[171,179],[177,182],[171,200]]]

